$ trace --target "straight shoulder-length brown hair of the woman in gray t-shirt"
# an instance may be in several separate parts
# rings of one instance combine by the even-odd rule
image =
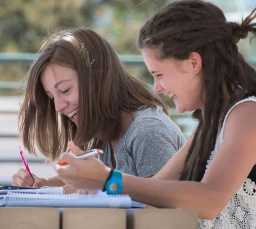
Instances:
[[[78,73],[77,126],[57,114],[54,101],[44,92],[39,77],[50,63]],[[55,160],[70,140],[84,150],[92,139],[92,148],[116,140],[121,134],[121,110],[133,112],[156,105],[169,115],[166,103],[126,71],[114,48],[97,32],[85,27],[65,30],[50,37],[31,64],[19,113],[20,133],[30,153],[36,155],[36,144],[44,156]]]

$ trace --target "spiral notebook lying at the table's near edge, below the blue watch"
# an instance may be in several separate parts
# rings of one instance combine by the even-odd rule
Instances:
[[[2,207],[93,207],[93,208],[131,208],[141,207],[129,195],[78,195],[78,194],[36,194],[9,192],[0,196]]]

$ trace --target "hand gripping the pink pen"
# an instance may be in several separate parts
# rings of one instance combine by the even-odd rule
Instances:
[[[36,175],[32,174],[33,179],[30,177],[27,169],[19,169],[17,174],[12,176],[12,185],[13,186],[21,186],[21,187],[35,187],[39,189],[43,186],[41,179],[39,179]]]

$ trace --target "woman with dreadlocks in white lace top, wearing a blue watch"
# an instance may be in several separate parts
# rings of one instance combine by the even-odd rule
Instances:
[[[255,37],[255,11],[241,24],[199,0],[175,1],[156,12],[141,28],[138,46],[155,92],[173,95],[179,112],[194,111],[195,132],[151,178],[68,154],[62,159],[70,166],[56,166],[59,178],[77,189],[195,209],[199,228],[255,228],[256,72],[237,47],[249,32]],[[69,146],[81,153],[73,142]]]

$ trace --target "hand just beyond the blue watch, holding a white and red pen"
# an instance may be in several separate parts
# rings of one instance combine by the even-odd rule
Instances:
[[[69,150],[75,155],[85,153],[73,142],[68,144]],[[110,168],[96,158],[86,160],[76,159],[67,153],[63,153],[62,160],[68,162],[67,166],[56,165],[58,177],[65,183],[79,190],[102,190],[106,182]]]

